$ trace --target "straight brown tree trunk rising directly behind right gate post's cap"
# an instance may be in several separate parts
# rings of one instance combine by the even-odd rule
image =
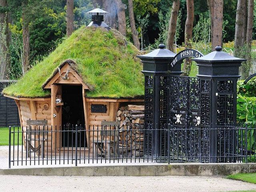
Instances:
[[[222,46],[223,0],[214,0],[212,49]]]

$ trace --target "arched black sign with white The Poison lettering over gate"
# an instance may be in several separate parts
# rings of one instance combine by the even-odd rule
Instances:
[[[178,54],[176,54],[176,56],[172,59],[172,61],[170,62],[169,66],[168,66],[168,70],[172,71],[172,69],[174,68],[174,66],[176,64],[178,64],[179,62],[182,62],[184,59],[186,58],[200,58],[204,56],[202,53],[200,53],[197,50],[194,49],[185,49],[181,52],[179,52]]]

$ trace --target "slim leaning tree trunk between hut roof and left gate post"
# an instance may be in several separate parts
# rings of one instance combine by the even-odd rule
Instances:
[[[135,26],[134,12],[133,12],[133,1],[132,0],[128,0],[128,7],[129,7],[129,18],[130,18],[130,26],[132,29],[133,43],[137,49],[140,49],[140,41],[139,41],[139,37],[138,37],[138,31],[136,30],[136,26]]]

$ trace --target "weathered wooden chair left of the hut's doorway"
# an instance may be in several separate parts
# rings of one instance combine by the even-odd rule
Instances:
[[[47,120],[27,120],[27,132],[26,132],[26,156],[30,157],[31,152],[38,152],[38,155],[40,156],[40,148],[42,151],[42,158],[44,157],[44,146],[46,141],[46,135],[47,132],[44,132],[43,130],[39,129],[32,129],[32,126],[47,126],[48,122]],[[45,129],[46,130],[46,129]],[[35,146],[32,146],[34,143]],[[38,143],[38,147],[36,147],[36,144]]]

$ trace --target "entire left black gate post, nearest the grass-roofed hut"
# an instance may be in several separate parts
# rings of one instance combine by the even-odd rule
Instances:
[[[170,75],[168,64],[176,54],[165,49],[164,44],[159,48],[145,55],[137,56],[143,63],[142,73],[145,78],[145,129],[144,134],[147,141],[144,142],[144,155],[157,158],[162,156],[161,129],[166,129],[168,125],[168,96],[166,80]],[[178,68],[177,68],[178,70]],[[164,141],[162,139],[162,141]],[[150,146],[151,145],[151,146]],[[166,154],[166,152],[164,152]],[[164,160],[164,159],[163,159]]]

